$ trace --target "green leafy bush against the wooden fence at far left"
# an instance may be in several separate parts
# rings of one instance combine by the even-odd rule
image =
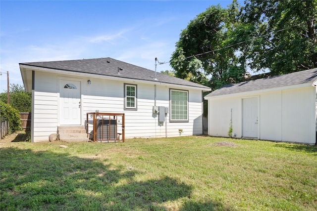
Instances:
[[[19,111],[10,105],[0,102],[0,116],[9,123],[9,134],[22,129]]]

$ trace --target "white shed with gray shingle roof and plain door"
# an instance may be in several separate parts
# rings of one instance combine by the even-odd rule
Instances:
[[[224,85],[207,96],[208,134],[316,144],[317,68]]]

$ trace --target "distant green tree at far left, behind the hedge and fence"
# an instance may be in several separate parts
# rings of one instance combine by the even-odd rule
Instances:
[[[0,101],[7,103],[7,92],[0,93]],[[19,84],[10,84],[10,105],[19,112],[31,112],[31,93],[27,93]]]

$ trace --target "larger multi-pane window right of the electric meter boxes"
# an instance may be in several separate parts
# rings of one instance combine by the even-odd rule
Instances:
[[[169,89],[170,122],[188,122],[188,91]]]

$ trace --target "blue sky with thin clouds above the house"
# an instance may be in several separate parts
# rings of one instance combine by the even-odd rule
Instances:
[[[232,0],[0,1],[0,72],[23,85],[19,63],[111,57],[155,70],[181,30],[209,6]],[[157,71],[171,70],[169,64]],[[6,90],[0,76],[0,92]]]

